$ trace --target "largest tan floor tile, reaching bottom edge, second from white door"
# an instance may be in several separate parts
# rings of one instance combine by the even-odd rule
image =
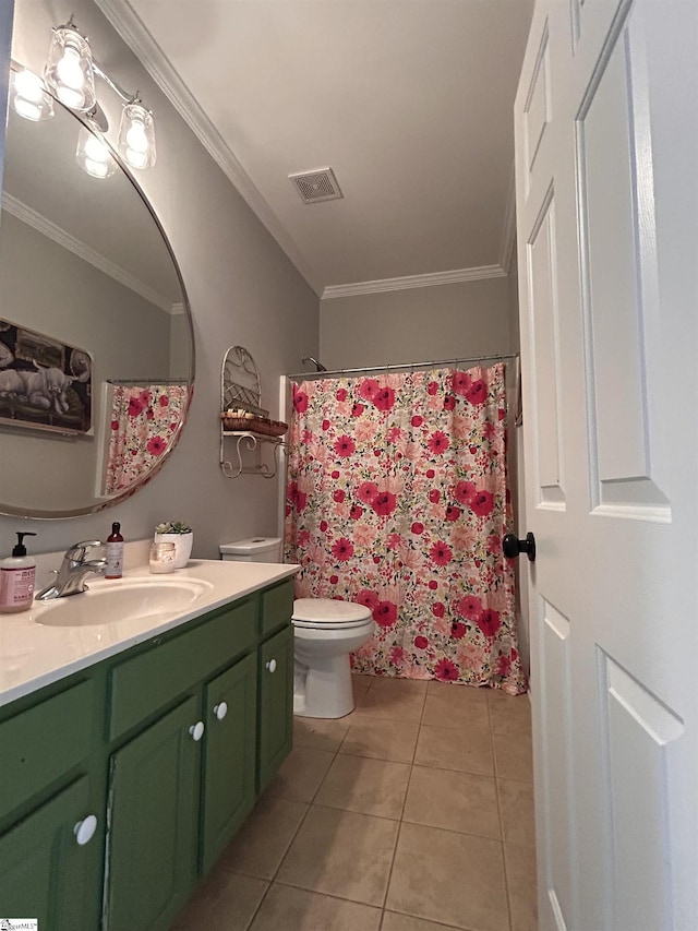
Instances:
[[[386,908],[469,931],[509,931],[502,844],[402,824]]]

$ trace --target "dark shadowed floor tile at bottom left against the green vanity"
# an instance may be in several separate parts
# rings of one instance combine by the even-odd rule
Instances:
[[[246,931],[269,884],[214,868],[171,931]]]

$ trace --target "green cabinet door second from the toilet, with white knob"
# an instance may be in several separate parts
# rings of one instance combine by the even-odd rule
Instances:
[[[251,654],[204,690],[202,872],[207,872],[254,804],[257,657]]]

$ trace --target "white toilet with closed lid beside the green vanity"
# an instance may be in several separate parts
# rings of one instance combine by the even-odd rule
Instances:
[[[278,537],[251,537],[220,546],[220,558],[281,562]],[[353,711],[349,654],[373,635],[371,610],[335,598],[293,601],[293,714],[340,718]]]

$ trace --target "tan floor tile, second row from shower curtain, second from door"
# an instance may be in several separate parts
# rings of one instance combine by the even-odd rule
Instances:
[[[459,769],[481,776],[494,775],[490,728],[464,725],[458,730],[422,725],[414,763],[441,769]]]

